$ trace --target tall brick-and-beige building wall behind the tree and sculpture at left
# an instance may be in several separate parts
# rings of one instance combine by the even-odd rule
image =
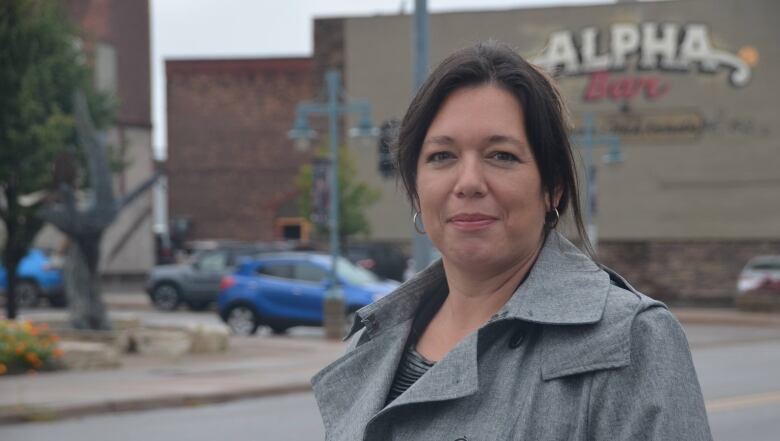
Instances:
[[[61,0],[79,27],[96,86],[118,102],[107,139],[124,151],[127,167],[114,176],[117,198],[153,174],[148,1]],[[64,236],[47,226],[38,246],[62,248]],[[123,210],[103,236],[100,267],[106,278],[140,278],[154,265],[151,192]]]

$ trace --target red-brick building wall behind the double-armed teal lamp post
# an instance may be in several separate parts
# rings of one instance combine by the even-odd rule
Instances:
[[[275,239],[277,210],[295,197],[310,153],[287,139],[310,100],[311,59],[168,60],[170,219],[188,239]]]

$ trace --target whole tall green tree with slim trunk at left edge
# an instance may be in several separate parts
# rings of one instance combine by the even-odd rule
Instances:
[[[53,186],[53,163],[69,150],[83,158],[74,90],[84,91],[96,126],[113,118],[113,103],[95,90],[78,41],[60,2],[0,2],[0,218],[9,318],[16,317],[18,264],[44,225],[36,213]]]

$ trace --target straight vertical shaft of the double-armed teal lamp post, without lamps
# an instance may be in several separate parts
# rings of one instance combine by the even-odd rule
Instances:
[[[339,72],[328,70],[325,74],[328,88],[328,124],[330,125],[330,259],[331,288],[327,295],[342,299],[343,295],[336,273],[339,257]]]

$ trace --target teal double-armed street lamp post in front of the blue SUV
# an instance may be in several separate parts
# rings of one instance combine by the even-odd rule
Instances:
[[[358,114],[360,117],[358,127],[349,131],[350,136],[376,136],[378,130],[371,124],[371,105],[365,100],[352,102],[341,101],[341,80],[337,70],[328,70],[325,73],[325,86],[328,99],[324,103],[303,102],[296,108],[295,124],[288,133],[290,139],[295,140],[300,149],[308,148],[310,141],[316,136],[314,130],[309,127],[308,118],[313,115],[327,115],[328,132],[330,139],[330,171],[329,182],[329,216],[328,226],[330,230],[330,286],[325,294],[323,305],[325,335],[327,338],[341,338],[344,335],[346,308],[344,304],[344,291],[341,288],[337,274],[339,250],[339,118],[342,115]]]

